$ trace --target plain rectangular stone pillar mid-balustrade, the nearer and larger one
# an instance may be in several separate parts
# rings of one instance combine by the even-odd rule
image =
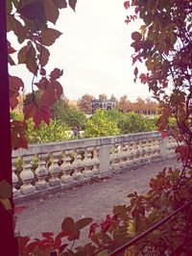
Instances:
[[[100,161],[100,166],[99,166],[100,173],[110,170],[110,168],[109,168],[109,163],[110,163],[109,145],[102,145],[100,147],[99,161]]]

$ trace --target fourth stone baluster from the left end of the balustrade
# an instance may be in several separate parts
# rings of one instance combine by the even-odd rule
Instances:
[[[52,187],[60,186],[60,179],[58,177],[60,174],[60,166],[58,165],[59,157],[60,157],[60,152],[52,153],[52,157],[51,157],[52,164],[48,168],[49,172],[51,174],[51,179],[49,180],[49,185]]]

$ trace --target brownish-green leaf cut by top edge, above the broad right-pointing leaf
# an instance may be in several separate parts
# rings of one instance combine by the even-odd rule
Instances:
[[[47,20],[56,24],[60,13],[53,0],[44,0],[44,8]]]

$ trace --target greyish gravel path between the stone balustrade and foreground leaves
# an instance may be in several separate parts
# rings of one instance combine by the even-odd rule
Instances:
[[[16,231],[20,235],[39,237],[41,232],[60,231],[63,218],[91,217],[101,220],[112,212],[112,206],[128,203],[127,194],[144,192],[149,180],[165,166],[176,166],[176,160],[156,163],[129,170],[102,182],[85,185],[67,192],[59,192],[47,199],[26,203],[26,209],[18,214]]]

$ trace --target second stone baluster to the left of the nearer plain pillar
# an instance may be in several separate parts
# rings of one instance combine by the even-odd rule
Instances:
[[[92,151],[93,151],[92,147],[87,147],[85,150],[85,156],[83,161],[83,164],[84,164],[83,174],[85,178],[93,175],[92,168],[93,168],[94,162],[92,160],[92,154],[91,154]]]

